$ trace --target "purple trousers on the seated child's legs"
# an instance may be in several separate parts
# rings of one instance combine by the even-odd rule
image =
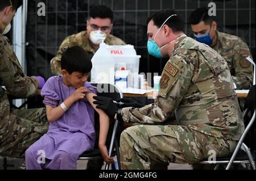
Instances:
[[[40,158],[39,158],[40,156]],[[53,159],[45,159],[43,161],[42,155],[38,154],[32,146],[26,150],[25,161],[27,170],[75,170],[76,161],[65,151],[59,150],[56,152]]]

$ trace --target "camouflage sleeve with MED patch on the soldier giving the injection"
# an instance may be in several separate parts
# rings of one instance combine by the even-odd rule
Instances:
[[[169,120],[192,79],[193,66],[186,59],[181,54],[172,56],[164,67],[155,103],[142,108],[123,108],[123,121],[153,124]]]

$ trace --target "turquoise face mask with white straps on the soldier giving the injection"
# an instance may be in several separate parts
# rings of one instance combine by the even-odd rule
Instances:
[[[167,20],[170,19],[172,16],[176,16],[176,14],[169,16],[169,18],[167,18],[164,23],[166,23]],[[159,30],[156,32],[155,37],[156,37],[156,35],[158,34],[158,32],[161,30],[161,28],[164,26],[164,23],[163,23],[162,26],[159,28]],[[172,40],[170,43],[168,43],[168,44],[164,45],[163,47],[159,48],[158,45],[155,43],[155,37],[154,37],[153,40],[148,40],[148,41],[147,41],[147,50],[148,50],[148,53],[151,54],[152,56],[156,57],[156,58],[163,58],[160,49],[166,47],[168,44],[172,43],[172,42],[173,42],[174,40],[176,40],[176,39]]]

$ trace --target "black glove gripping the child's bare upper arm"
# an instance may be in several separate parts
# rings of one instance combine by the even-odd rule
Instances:
[[[115,113],[118,109],[117,105],[113,102],[113,99],[104,96],[93,96],[94,104],[98,104],[96,108],[103,110],[110,118],[115,117]]]

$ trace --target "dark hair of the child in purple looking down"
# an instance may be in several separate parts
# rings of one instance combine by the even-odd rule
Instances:
[[[89,73],[92,70],[92,61],[88,53],[82,47],[75,46],[65,50],[61,56],[61,69],[65,69],[69,74],[73,71]]]

